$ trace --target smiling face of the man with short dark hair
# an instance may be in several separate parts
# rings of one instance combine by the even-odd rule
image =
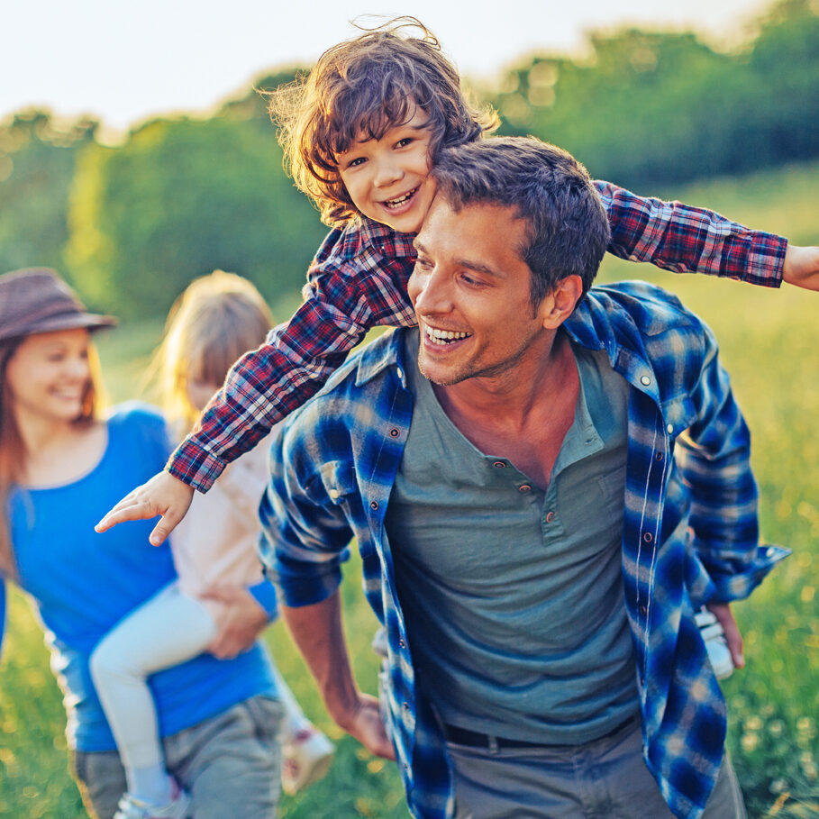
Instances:
[[[530,301],[532,272],[521,259],[526,223],[512,208],[438,196],[415,240],[408,291],[421,329],[418,366],[441,386],[508,374],[544,332]]]

